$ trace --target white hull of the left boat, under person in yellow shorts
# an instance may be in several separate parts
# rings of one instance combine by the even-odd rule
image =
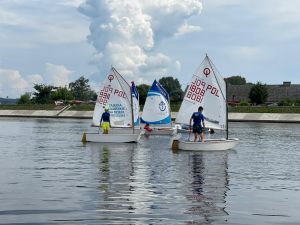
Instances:
[[[140,133],[137,134],[102,134],[102,133],[84,133],[82,142],[97,143],[130,143],[138,142]]]

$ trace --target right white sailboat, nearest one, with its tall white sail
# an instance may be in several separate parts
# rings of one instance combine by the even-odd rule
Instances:
[[[180,134],[171,139],[173,149],[211,151],[234,148],[237,138],[228,138],[228,109],[226,101],[226,81],[219,74],[210,58],[206,55],[195,71],[188,86],[175,123],[189,125],[193,112],[204,108],[205,127],[226,131],[226,137],[206,139],[204,143],[184,140]]]

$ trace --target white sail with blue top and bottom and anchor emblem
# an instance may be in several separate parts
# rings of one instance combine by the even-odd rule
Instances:
[[[141,122],[154,125],[171,124],[169,95],[156,80],[147,94]]]

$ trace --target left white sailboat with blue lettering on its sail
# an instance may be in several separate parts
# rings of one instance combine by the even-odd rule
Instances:
[[[83,142],[123,143],[138,141],[140,130],[134,129],[135,117],[138,116],[138,113],[134,112],[134,107],[138,110],[138,102],[134,100],[133,89],[122,75],[112,67],[100,86],[92,123],[93,126],[99,127],[104,108],[108,107],[110,123],[113,128],[109,134],[102,134],[100,127],[98,132],[84,132]]]

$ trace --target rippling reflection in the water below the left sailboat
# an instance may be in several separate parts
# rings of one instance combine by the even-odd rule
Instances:
[[[132,159],[137,144],[92,144],[92,160],[97,161],[98,196],[94,198],[99,215],[113,219],[134,210],[130,194]],[[128,218],[129,219],[129,218]],[[126,219],[125,219],[126,221]]]

